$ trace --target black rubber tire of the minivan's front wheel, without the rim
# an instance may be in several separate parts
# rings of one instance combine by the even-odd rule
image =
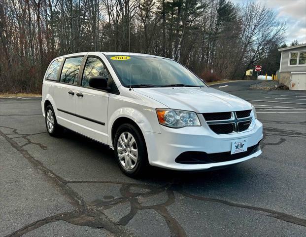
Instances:
[[[136,142],[136,148],[137,148],[137,161],[134,164],[135,166],[132,169],[127,169],[123,166],[122,162],[120,161],[119,154],[118,154],[118,140],[120,136],[123,133],[130,133],[133,135],[135,142]],[[114,151],[115,151],[115,157],[117,158],[118,164],[120,169],[124,174],[126,174],[129,177],[139,177],[143,172],[148,168],[149,162],[148,162],[148,153],[146,144],[144,141],[144,137],[138,127],[136,127],[134,124],[131,123],[124,123],[119,126],[115,133],[114,138]],[[132,152],[130,153],[132,154]],[[124,158],[123,158],[124,159]],[[131,159],[132,161],[132,159]],[[134,162],[134,161],[133,161]]]

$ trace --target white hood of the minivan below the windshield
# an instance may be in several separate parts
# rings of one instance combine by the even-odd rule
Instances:
[[[134,88],[171,109],[196,113],[228,112],[251,109],[251,104],[237,96],[210,87]]]

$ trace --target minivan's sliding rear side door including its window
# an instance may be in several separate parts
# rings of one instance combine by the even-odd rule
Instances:
[[[60,83],[54,84],[54,100],[58,123],[74,130],[75,93],[83,56],[66,58],[60,76]]]

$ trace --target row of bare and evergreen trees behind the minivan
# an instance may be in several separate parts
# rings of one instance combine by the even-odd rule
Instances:
[[[0,92],[40,92],[53,58],[82,51],[131,50],[173,58],[205,80],[241,79],[276,60],[285,30],[253,1],[0,0]]]

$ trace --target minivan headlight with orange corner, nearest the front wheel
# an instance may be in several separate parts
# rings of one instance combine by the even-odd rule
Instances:
[[[196,113],[183,110],[156,109],[160,124],[167,127],[201,126]]]

